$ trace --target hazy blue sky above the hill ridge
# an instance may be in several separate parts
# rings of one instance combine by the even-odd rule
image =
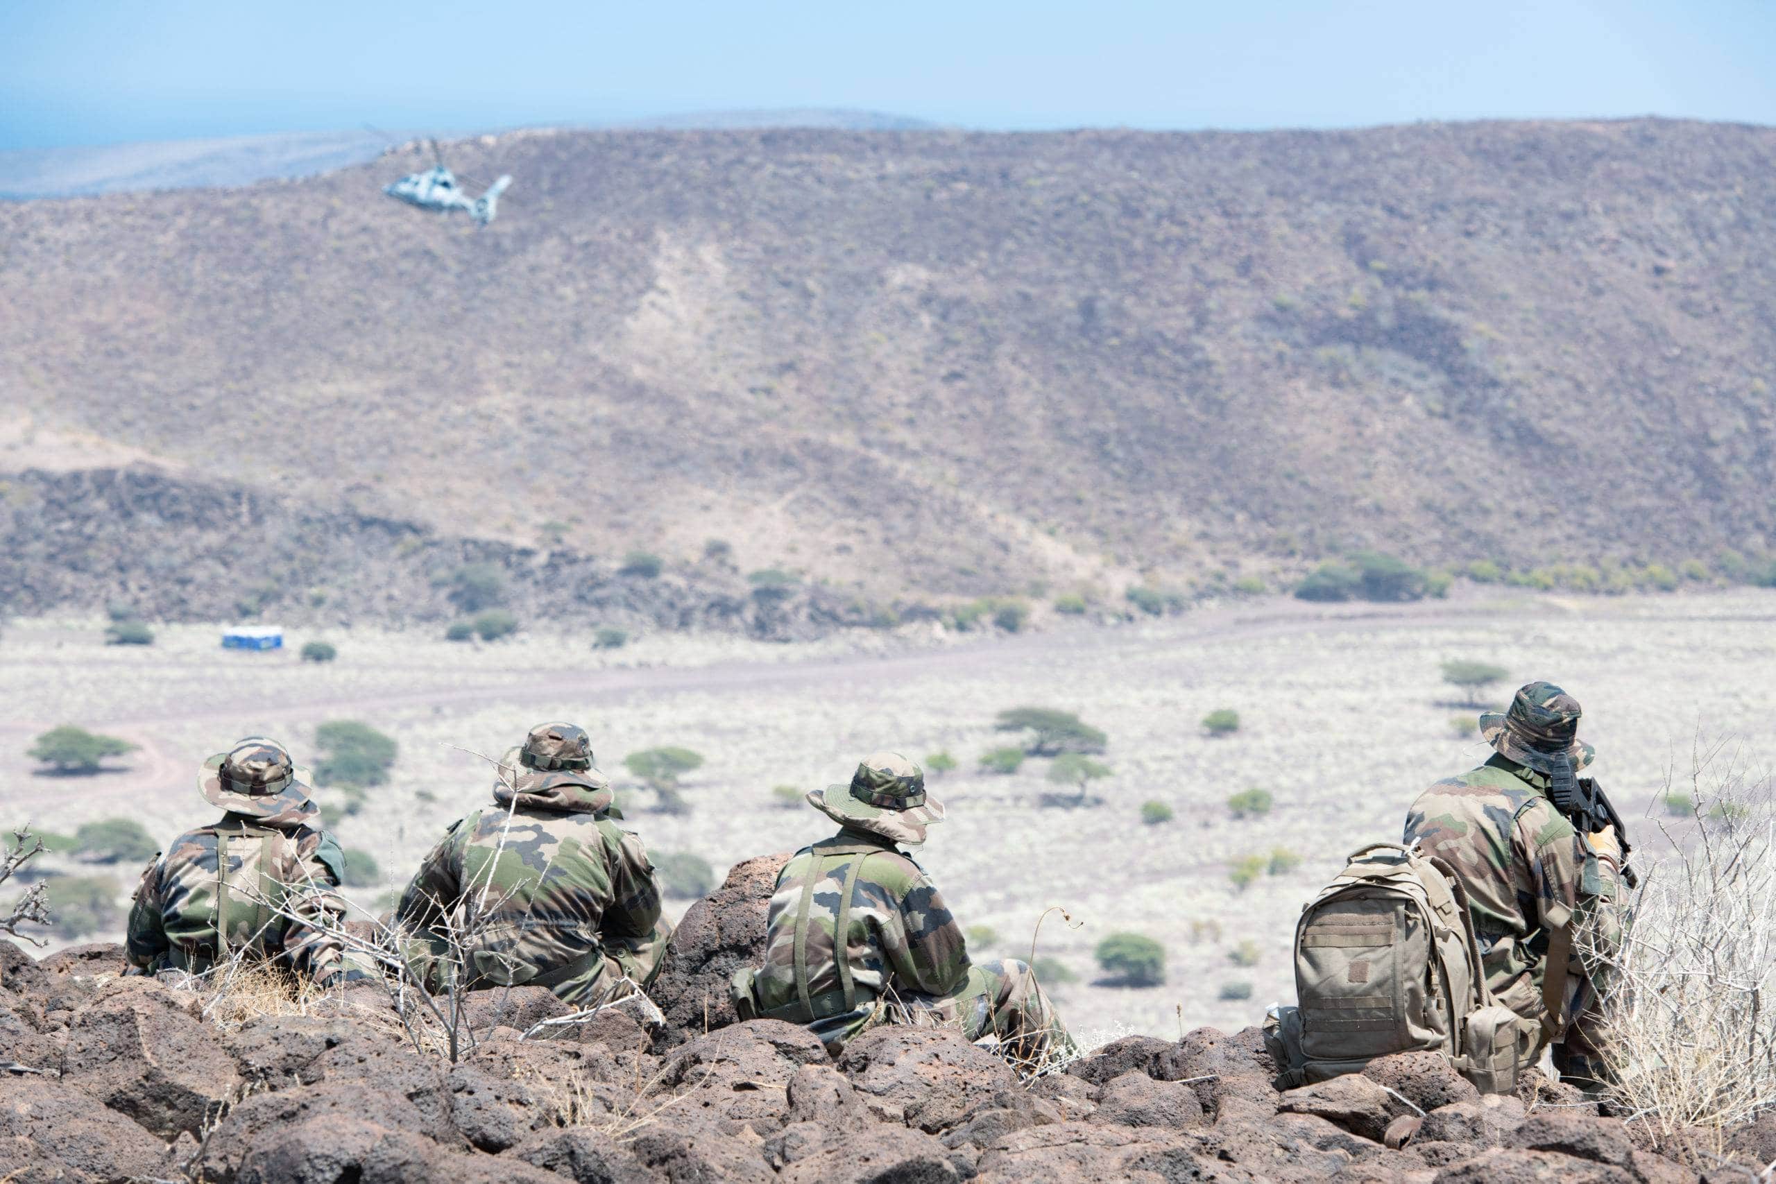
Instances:
[[[757,107],[977,128],[1776,124],[1776,0],[0,0],[0,149]]]

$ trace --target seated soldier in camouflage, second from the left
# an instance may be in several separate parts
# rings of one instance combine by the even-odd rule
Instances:
[[[671,923],[641,840],[618,829],[611,785],[574,724],[538,724],[494,808],[451,825],[394,912],[408,967],[432,991],[451,973],[449,930],[469,937],[469,989],[529,983],[591,1005],[659,973]]]

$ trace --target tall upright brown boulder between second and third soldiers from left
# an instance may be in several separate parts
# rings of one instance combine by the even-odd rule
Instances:
[[[765,950],[765,912],[789,852],[737,863],[728,879],[698,900],[678,921],[648,998],[666,1015],[661,1047],[725,1028],[739,1019],[728,1003],[728,980],[742,966],[757,967]]]

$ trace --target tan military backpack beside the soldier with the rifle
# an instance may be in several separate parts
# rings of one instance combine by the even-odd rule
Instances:
[[[1506,1093],[1534,1047],[1533,1028],[1487,989],[1462,882],[1396,843],[1352,852],[1302,909],[1295,994],[1265,1022],[1280,1088],[1431,1051],[1483,1093]]]

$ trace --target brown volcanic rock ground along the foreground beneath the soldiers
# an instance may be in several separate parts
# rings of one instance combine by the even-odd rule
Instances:
[[[1131,1037],[1034,1081],[934,1028],[877,1028],[833,1062],[721,1003],[781,859],[686,916],[654,991],[664,1024],[538,1030],[567,1012],[554,996],[485,992],[455,1063],[417,1053],[377,989],[242,1019],[121,978],[114,944],[34,962],[0,943],[0,1179],[1712,1184],[1776,1159],[1776,1117],[1724,1154],[1668,1148],[1680,1163],[1570,1088],[1481,1099],[1430,1054],[1279,1093],[1256,1028]]]

